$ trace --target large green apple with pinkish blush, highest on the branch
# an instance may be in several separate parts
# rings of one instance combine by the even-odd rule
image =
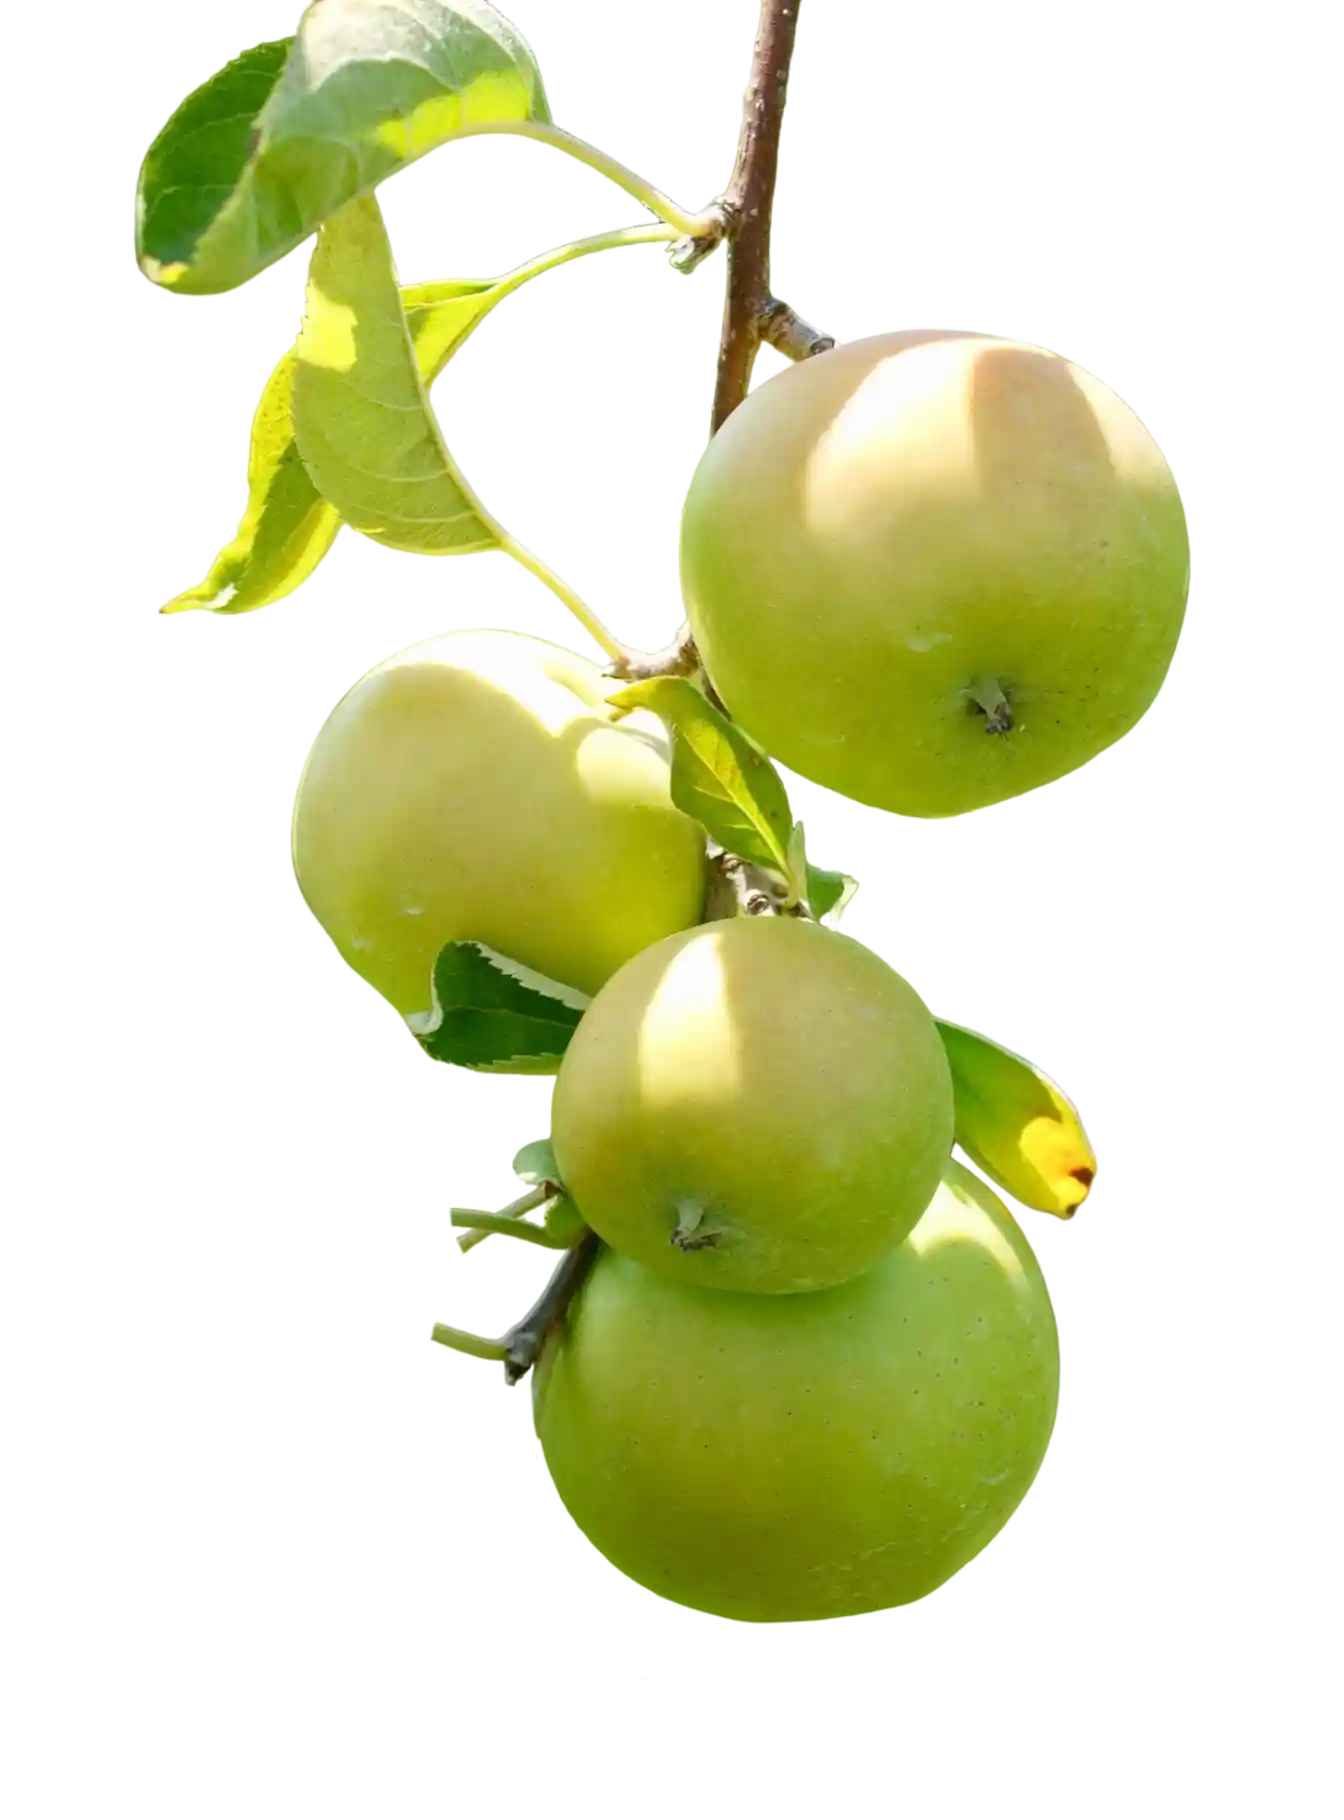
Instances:
[[[1156,439],[1064,355],[876,335],[765,380],[683,499],[681,590],[781,764],[911,819],[1054,784],[1140,726],[1189,606]]]

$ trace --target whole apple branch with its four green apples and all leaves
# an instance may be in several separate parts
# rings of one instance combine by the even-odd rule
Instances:
[[[310,0],[169,107],[131,206],[137,271],[175,297],[302,255],[237,526],[162,617],[279,606],[346,533],[441,564],[455,613],[331,679],[288,806],[297,901],[415,1065],[483,1094],[550,1083],[514,1192],[448,1216],[457,1256],[532,1247],[550,1274],[501,1330],[424,1338],[524,1389],[603,1567],[758,1627],[923,1605],[1007,1534],[1064,1383],[1025,1219],[1076,1225],[1102,1179],[1074,1096],[932,1005],[927,956],[850,928],[861,881],[814,855],[794,783],[892,839],[1027,797],[1047,817],[1098,763],[1124,777],[1191,604],[1180,480],[1100,366],[912,329],[900,300],[889,329],[825,331],[778,295],[801,13],[758,0],[730,175],[701,209],[561,127],[490,0]],[[639,218],[406,277],[395,180],[486,136],[572,160]],[[657,652],[484,497],[435,404],[503,304],[554,335],[541,278],[636,255],[723,273],[707,435],[668,500],[683,622]],[[506,399],[512,439],[568,453],[532,369]],[[499,559],[581,648],[468,630]]]

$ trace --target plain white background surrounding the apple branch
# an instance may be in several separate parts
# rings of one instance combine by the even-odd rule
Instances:
[[[718,189],[745,0],[515,15],[566,124],[687,204]],[[1344,1525],[1025,1523],[905,1618],[739,1631],[596,1565],[524,1398],[424,1350],[426,1314],[497,1327],[537,1287],[545,1261],[450,1258],[444,1205],[506,1190],[545,1090],[421,1065],[337,970],[286,885],[288,788],[408,637],[568,633],[501,559],[353,541],[284,608],[149,617],[229,530],[300,262],[160,297],[126,182],[199,71],[286,24],[16,25],[4,1805],[1322,1811]],[[1193,504],[1186,655],[1124,750],[947,826],[799,803],[865,875],[860,932],[1100,1128],[1095,1207],[1034,1227],[1067,1352],[1038,1507],[1344,1507],[1340,49],[1326,0],[814,0],[803,29],[781,288],[830,328],[1076,353]],[[388,207],[408,277],[634,218],[501,142]],[[654,253],[572,269],[441,389],[488,497],[637,644],[677,617],[716,293]]]

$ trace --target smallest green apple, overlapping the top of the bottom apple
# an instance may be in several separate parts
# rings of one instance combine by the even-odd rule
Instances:
[[[550,1096],[566,1190],[681,1283],[794,1294],[900,1245],[952,1148],[932,1010],[876,950],[734,917],[628,961]]]

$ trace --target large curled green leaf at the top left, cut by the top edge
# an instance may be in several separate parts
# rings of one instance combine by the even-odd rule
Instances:
[[[235,51],[149,140],[137,264],[166,291],[239,291],[450,140],[548,118],[532,51],[488,0],[311,0],[291,35]]]

